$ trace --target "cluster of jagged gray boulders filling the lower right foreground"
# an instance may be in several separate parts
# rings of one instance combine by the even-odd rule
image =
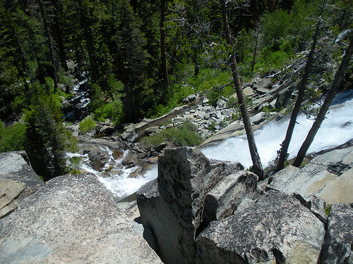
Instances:
[[[350,185],[319,196],[338,186],[327,179],[352,180],[352,151],[288,166],[264,188],[239,165],[208,160],[196,148],[167,149],[158,178],[138,190],[141,220],[164,263],[353,263]],[[337,197],[345,204],[333,204],[328,218],[326,204]]]

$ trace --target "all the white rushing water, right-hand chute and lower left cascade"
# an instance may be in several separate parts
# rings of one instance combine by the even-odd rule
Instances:
[[[316,134],[308,153],[338,146],[353,139],[353,91],[341,93],[337,96],[333,105],[330,107],[330,112],[326,116],[327,118],[323,121],[321,128],[318,130],[318,134]],[[263,168],[271,161],[275,160],[277,150],[280,149],[280,144],[283,139],[285,139],[288,122],[289,119],[269,122],[261,130],[254,132]],[[298,124],[295,126],[292,141],[289,145],[289,158],[294,158],[294,156],[297,155],[306,134],[313,124],[313,120],[306,119],[304,115],[301,115],[297,122]],[[106,151],[109,150],[106,149]],[[225,139],[223,142],[220,142],[220,144],[217,144],[217,146],[205,147],[201,149],[201,151],[203,151],[208,158],[221,161],[239,161],[245,168],[249,168],[252,165],[249,146],[245,135]],[[112,160],[106,165],[107,167],[114,164],[113,170],[121,170],[121,173],[112,174],[110,177],[103,177],[101,172],[94,170],[88,165],[87,155],[82,157],[84,162],[81,168],[88,172],[95,173],[100,182],[102,182],[117,199],[133,194],[143,184],[157,177],[157,165],[144,175],[131,177],[131,172],[136,170],[137,167],[121,169],[122,158]]]

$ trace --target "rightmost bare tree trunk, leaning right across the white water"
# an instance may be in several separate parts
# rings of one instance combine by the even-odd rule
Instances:
[[[306,151],[308,151],[311,143],[313,142],[313,138],[316,136],[316,133],[318,132],[318,129],[321,126],[321,123],[325,119],[325,115],[328,111],[328,108],[330,107],[333,99],[335,98],[338,87],[340,86],[343,76],[345,75],[345,71],[347,70],[352,54],[353,54],[353,37],[351,37],[350,39],[350,43],[346,50],[346,54],[342,58],[340,68],[338,68],[337,70],[337,73],[335,75],[335,80],[333,80],[333,84],[330,88],[330,91],[328,91],[325,101],[323,102],[323,106],[321,107],[315,122],[313,122],[313,126],[311,127],[311,130],[309,131],[308,135],[306,136],[304,143],[301,145],[301,148],[298,151],[297,158],[293,163],[295,167],[299,167],[301,165],[301,162],[305,158]]]

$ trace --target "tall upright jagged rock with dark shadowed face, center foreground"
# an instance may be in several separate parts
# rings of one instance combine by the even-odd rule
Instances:
[[[155,235],[164,263],[194,262],[205,196],[223,177],[240,169],[239,163],[209,160],[196,148],[164,151],[157,180],[137,192],[143,225]]]

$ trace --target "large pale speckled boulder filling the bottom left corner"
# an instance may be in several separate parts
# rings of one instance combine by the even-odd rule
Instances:
[[[49,180],[0,226],[0,263],[161,263],[90,173]]]

